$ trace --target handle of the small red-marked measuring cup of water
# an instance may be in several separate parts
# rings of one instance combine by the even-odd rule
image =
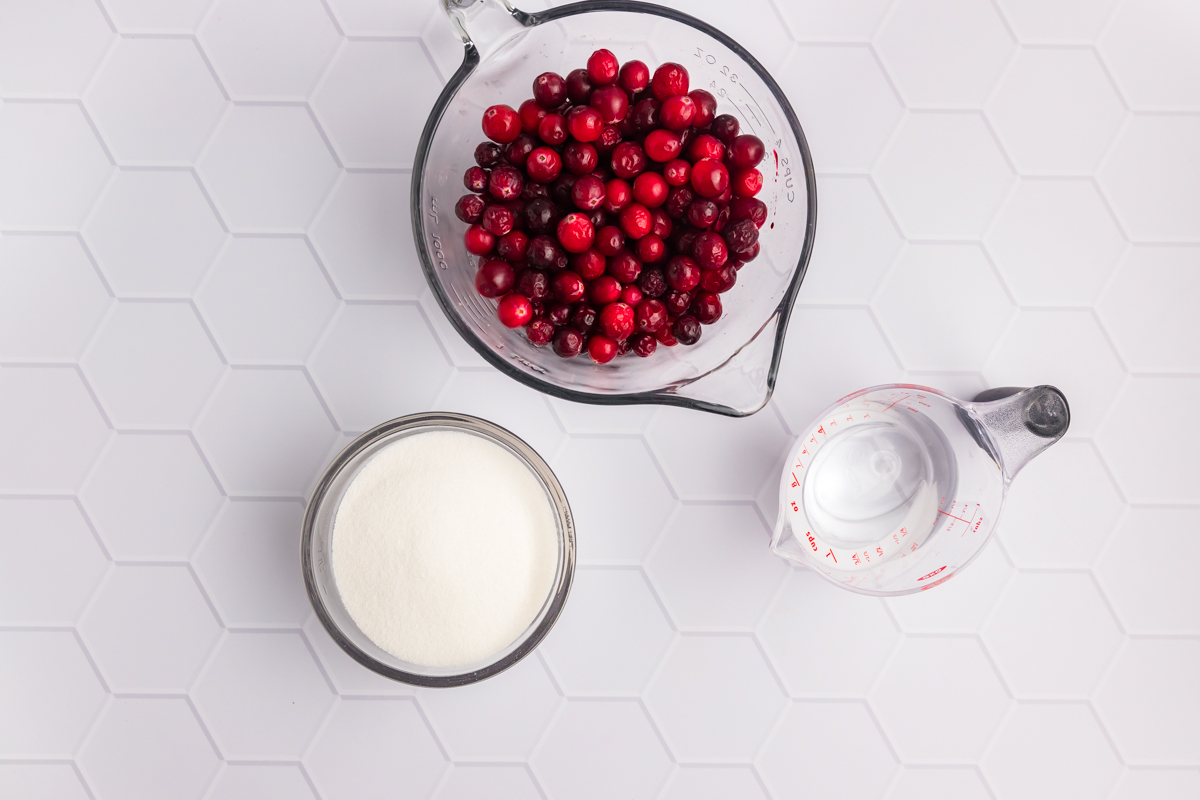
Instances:
[[[966,408],[964,423],[996,458],[1006,481],[1062,439],[1070,426],[1067,397],[1054,386],[989,389],[976,395]]]

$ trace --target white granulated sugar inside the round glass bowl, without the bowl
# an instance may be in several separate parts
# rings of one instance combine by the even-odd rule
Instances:
[[[469,433],[418,433],[382,450],[334,521],[347,610],[410,663],[476,663],[517,639],[550,595],[554,511],[512,453]]]

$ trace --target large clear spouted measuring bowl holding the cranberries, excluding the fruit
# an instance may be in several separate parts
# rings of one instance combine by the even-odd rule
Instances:
[[[816,178],[804,132],[782,90],[732,38],[672,8],[592,0],[526,13],[508,0],[442,0],[466,49],[438,97],[416,149],[412,216],[416,249],[442,309],[460,335],[505,374],[570,401],[666,403],[745,416],[766,405],[775,385],[788,314],[812,251]],[[744,13],[731,6],[730,13]],[[472,32],[468,32],[468,28]],[[721,296],[725,315],[692,347],[661,347],[649,359],[598,366],[560,359],[504,327],[496,302],[475,291],[476,259],[462,243],[454,205],[463,173],[484,139],[480,119],[497,102],[518,104],[545,71],[565,74],[598,47],[649,65],[683,64],[694,89],[718,100],[744,132],[767,145],[758,194],[768,207],[761,253]]]

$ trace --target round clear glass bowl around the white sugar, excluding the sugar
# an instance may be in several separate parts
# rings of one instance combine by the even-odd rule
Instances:
[[[346,489],[380,450],[403,437],[428,431],[458,431],[504,447],[526,464],[546,491],[558,528],[558,566],[550,596],[529,627],[508,648],[466,667],[425,667],[386,652],[350,618],[334,579],[331,545],[334,519]],[[575,576],[575,523],[566,494],[554,473],[533,447],[498,425],[464,414],[413,414],[367,431],[335,458],[313,489],[300,537],[300,566],[313,610],[329,634],[360,664],[392,680],[414,686],[462,686],[504,672],[529,655],[558,620]]]

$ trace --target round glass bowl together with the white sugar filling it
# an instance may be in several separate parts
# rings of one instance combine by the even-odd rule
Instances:
[[[575,525],[558,479],[518,437],[414,414],[325,469],[300,560],[317,616],[352,658],[406,684],[462,686],[550,632],[575,573]]]

